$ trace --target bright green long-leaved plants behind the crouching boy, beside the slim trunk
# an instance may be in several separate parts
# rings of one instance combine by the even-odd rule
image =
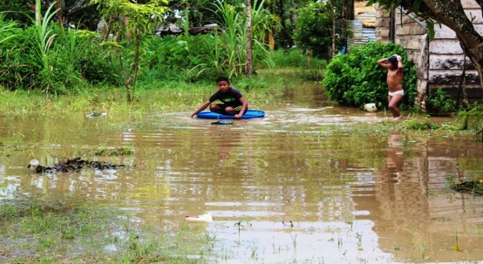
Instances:
[[[190,35],[189,14],[185,11],[183,29],[178,36],[151,38],[146,61],[151,66],[151,78],[162,80],[213,80],[215,76],[241,76],[246,61],[246,21],[236,8],[217,1],[212,12],[218,15],[221,30],[210,35]],[[266,45],[253,39],[253,61],[271,66]]]

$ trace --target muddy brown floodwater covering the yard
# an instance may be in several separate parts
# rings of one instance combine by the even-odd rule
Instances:
[[[446,184],[483,177],[482,143],[355,133],[384,113],[339,107],[314,83],[286,86],[274,105],[250,102],[266,117],[233,125],[189,112],[150,113],[121,127],[85,113],[0,118],[1,138],[36,146],[0,158],[0,199],[69,194],[115,204],[153,230],[190,225],[193,239],[214,237],[219,263],[483,261],[483,198]],[[99,146],[131,146],[135,155],[85,157],[130,168],[26,169],[34,158],[53,165]],[[205,213],[212,222],[185,221]]]

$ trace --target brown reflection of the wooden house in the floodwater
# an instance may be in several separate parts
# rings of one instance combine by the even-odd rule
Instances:
[[[445,191],[446,177],[459,175],[457,157],[464,155],[438,143],[425,139],[405,148],[399,134],[390,134],[387,166],[366,197],[354,197],[357,210],[371,212],[358,219],[372,220],[381,249],[403,258],[421,258],[425,250],[430,259],[456,261],[461,256],[451,247],[457,236],[467,258],[482,259],[483,238],[475,224],[483,223],[483,200]]]

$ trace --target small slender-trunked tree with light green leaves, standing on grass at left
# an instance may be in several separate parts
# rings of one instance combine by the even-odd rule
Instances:
[[[152,34],[154,26],[164,17],[167,0],[151,0],[145,4],[133,3],[129,0],[92,0],[99,3],[101,15],[108,22],[105,39],[110,33],[115,35],[115,43],[111,43],[119,55],[119,64],[126,86],[126,100],[131,102],[130,87],[135,85],[139,72],[139,55],[142,38]],[[124,51],[133,47],[133,60],[129,68],[125,66]]]

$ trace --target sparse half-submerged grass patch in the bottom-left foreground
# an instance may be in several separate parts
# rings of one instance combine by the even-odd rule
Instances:
[[[112,206],[73,197],[0,204],[0,263],[200,263],[165,238]]]

